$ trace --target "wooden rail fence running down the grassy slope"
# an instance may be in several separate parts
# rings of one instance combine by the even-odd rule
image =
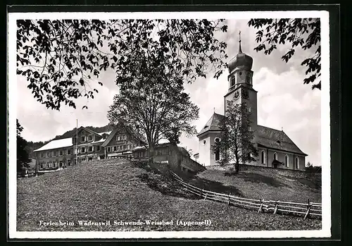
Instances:
[[[184,180],[182,180],[180,176],[177,176],[176,173],[172,172],[172,176],[174,176],[177,182],[186,187],[189,192],[199,195],[200,197],[204,197],[204,199],[224,202],[227,205],[245,207],[247,209],[256,209],[258,213],[268,212],[272,214],[298,215],[304,216],[304,219],[307,219],[308,216],[312,219],[320,219],[322,216],[322,204],[317,202],[309,202],[309,199],[307,203],[298,203],[234,197],[231,193],[229,195],[225,195],[222,193],[212,192],[210,190],[202,190],[199,187],[195,187],[194,185],[184,182]]]

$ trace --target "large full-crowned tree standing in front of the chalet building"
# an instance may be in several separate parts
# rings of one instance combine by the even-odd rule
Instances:
[[[145,136],[149,156],[153,156],[159,140],[177,144],[182,133],[196,134],[191,122],[199,117],[199,109],[184,92],[180,71],[172,68],[168,59],[141,54],[135,61],[139,63],[134,78],[115,95],[108,120],[136,140]]]

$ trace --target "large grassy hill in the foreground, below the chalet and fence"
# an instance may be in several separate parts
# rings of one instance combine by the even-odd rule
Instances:
[[[167,175],[168,168],[102,160],[63,171],[18,180],[17,230],[313,230],[321,221],[258,214],[256,211],[194,197]],[[210,171],[200,173],[204,182]],[[196,178],[199,182],[200,178]],[[218,181],[216,181],[218,182]],[[225,181],[224,181],[225,182]],[[230,182],[230,181],[229,181]],[[244,181],[247,182],[247,181]],[[220,182],[219,182],[220,183]],[[214,185],[215,184],[215,185]],[[221,184],[221,183],[220,183]],[[248,182],[247,182],[248,184]],[[226,183],[227,185],[227,183]],[[227,187],[222,184],[223,187]],[[242,195],[244,187],[232,183]],[[218,189],[221,185],[218,185]],[[279,187],[280,188],[280,187]],[[304,191],[303,191],[304,192]],[[252,196],[249,194],[249,196]],[[211,221],[210,226],[177,226],[183,221]],[[80,226],[78,221],[111,225]],[[114,225],[113,221],[170,221],[173,225]],[[73,226],[39,226],[39,221],[73,222]]]

